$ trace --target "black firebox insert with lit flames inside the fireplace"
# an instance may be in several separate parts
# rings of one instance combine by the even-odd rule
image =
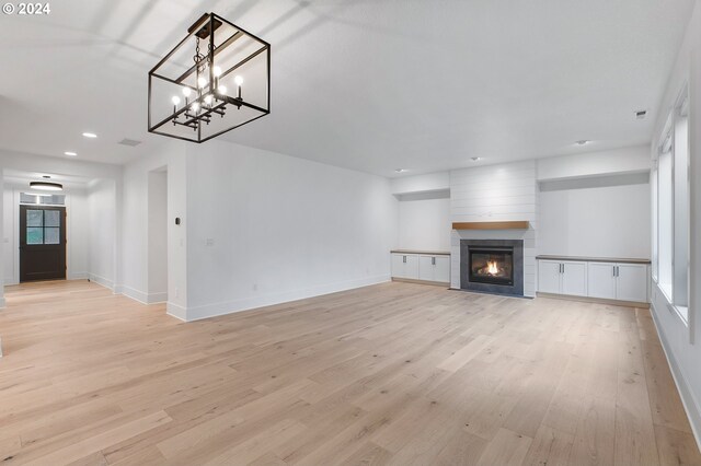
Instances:
[[[472,282],[513,286],[514,248],[470,246],[469,271]]]

